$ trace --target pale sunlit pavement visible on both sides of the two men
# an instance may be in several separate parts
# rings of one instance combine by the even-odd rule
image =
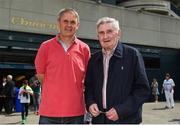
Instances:
[[[165,102],[151,102],[143,105],[143,124],[180,124],[180,102],[173,109],[165,109]],[[38,124],[39,116],[29,112],[27,124]],[[21,113],[0,114],[0,124],[21,124]]]

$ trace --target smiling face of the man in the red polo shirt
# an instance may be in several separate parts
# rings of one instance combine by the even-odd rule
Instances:
[[[66,12],[58,20],[58,28],[63,37],[73,37],[79,27],[79,22],[73,12]]]

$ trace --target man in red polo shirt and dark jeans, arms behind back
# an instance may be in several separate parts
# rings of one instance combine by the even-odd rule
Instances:
[[[35,59],[42,83],[40,124],[80,124],[85,113],[84,76],[90,49],[75,36],[78,13],[71,8],[58,15],[59,34],[43,42]]]

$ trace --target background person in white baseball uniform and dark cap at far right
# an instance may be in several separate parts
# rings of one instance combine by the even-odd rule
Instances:
[[[164,82],[163,82],[163,90],[166,97],[166,106],[165,108],[174,108],[174,87],[175,83],[173,79],[170,77],[169,73],[166,73]]]

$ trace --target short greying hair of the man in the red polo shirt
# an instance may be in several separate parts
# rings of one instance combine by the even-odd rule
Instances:
[[[61,9],[58,13],[58,20],[61,19],[61,17],[64,15],[64,13],[66,12],[72,12],[75,14],[76,18],[77,18],[77,21],[78,23],[80,22],[79,20],[79,14],[73,9],[73,8],[64,8],[64,9]]]

